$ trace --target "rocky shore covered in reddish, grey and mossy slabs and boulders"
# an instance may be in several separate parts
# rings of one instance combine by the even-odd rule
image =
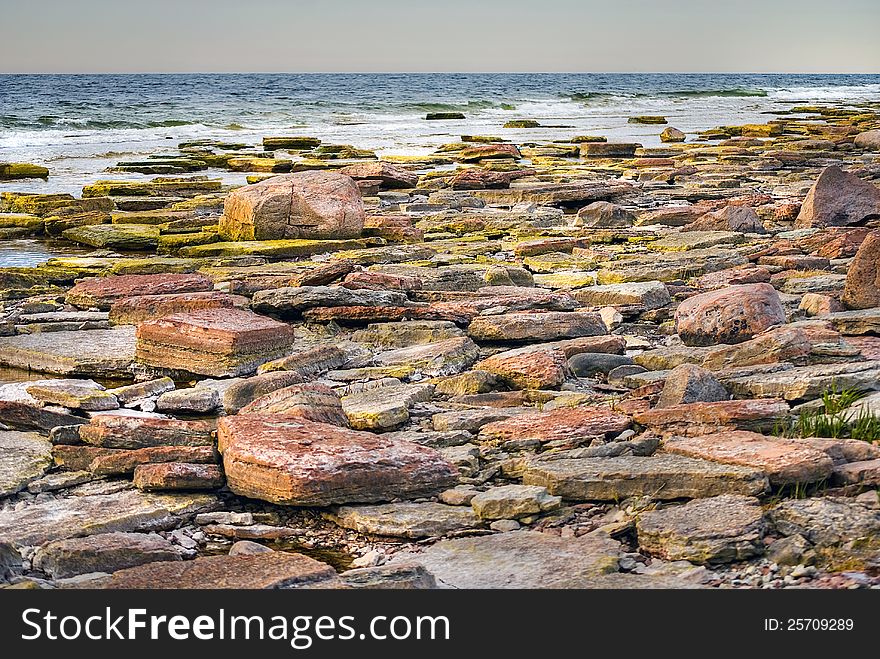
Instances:
[[[880,106],[631,121],[0,194],[0,583],[880,586]]]

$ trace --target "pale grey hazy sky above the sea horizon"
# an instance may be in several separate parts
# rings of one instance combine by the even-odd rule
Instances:
[[[880,72],[880,0],[0,0],[0,72]]]

